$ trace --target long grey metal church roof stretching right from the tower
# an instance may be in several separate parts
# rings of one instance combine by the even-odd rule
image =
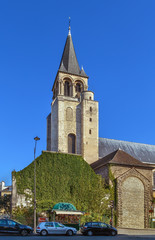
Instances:
[[[143,163],[155,164],[155,145],[99,138],[99,157],[121,149]]]

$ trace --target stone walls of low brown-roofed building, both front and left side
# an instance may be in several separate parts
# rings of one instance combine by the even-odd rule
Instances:
[[[118,164],[106,164],[95,169],[107,183],[109,167],[116,179],[116,211],[118,226],[123,228],[148,228],[152,200],[152,169]]]

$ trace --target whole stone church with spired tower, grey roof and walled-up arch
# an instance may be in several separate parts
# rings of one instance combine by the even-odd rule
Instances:
[[[99,138],[99,103],[88,89],[87,74],[79,67],[70,27],[52,92],[47,151],[82,155],[109,184],[112,173],[118,226],[150,227],[154,217],[155,146]]]

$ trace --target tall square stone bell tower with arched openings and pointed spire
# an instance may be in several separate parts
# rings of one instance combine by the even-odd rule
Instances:
[[[47,117],[47,150],[81,154],[90,164],[98,159],[98,102],[88,91],[88,76],[80,69],[69,33],[53,84]]]

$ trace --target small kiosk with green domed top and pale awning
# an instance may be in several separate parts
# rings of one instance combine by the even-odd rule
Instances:
[[[52,209],[52,220],[79,230],[80,216],[84,213],[77,211],[71,203],[57,203]]]

